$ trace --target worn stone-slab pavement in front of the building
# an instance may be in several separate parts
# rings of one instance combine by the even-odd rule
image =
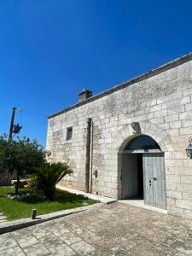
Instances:
[[[192,255],[192,222],[122,203],[96,205],[1,235],[0,255]]]

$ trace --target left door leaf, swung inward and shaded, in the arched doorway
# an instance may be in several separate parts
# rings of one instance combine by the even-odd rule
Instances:
[[[137,197],[137,155],[122,155],[122,199]]]

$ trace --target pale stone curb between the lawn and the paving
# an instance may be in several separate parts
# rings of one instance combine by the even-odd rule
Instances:
[[[101,206],[102,203],[97,203],[96,205],[90,205],[87,207],[77,207],[73,209],[68,209],[60,212],[51,212],[48,214],[39,215],[37,218],[21,218],[15,221],[9,221],[5,222],[3,224],[0,224],[0,235],[3,233],[8,233],[15,230],[20,230],[35,224],[40,224],[47,222],[49,220],[55,219],[55,218],[61,218],[65,217],[67,215],[78,213],[78,212],[84,212],[87,210],[90,210],[92,207]]]

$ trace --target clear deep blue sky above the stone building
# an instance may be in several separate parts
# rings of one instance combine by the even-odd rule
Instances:
[[[47,116],[192,51],[192,1],[0,1],[0,134],[45,145]]]

